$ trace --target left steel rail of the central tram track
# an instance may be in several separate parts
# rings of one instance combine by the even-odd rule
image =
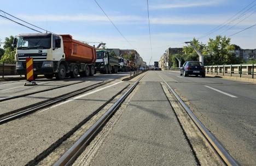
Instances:
[[[143,76],[142,76],[143,77]],[[104,124],[110,119],[114,112],[119,108],[121,103],[124,102],[127,96],[135,89],[136,85],[141,80],[140,77],[131,88],[129,88],[124,95],[122,95],[108,110],[104,113],[100,119],[98,119],[94,125],[92,125],[88,131],[86,131],[82,137],[80,137],[74,145],[71,146],[60,158],[54,163],[54,166],[69,165],[74,162],[74,160],[80,155],[86,145],[90,142],[92,138],[101,130]]]

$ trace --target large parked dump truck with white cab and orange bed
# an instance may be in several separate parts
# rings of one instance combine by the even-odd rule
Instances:
[[[93,76],[96,48],[72,39],[71,35],[51,33],[18,36],[16,71],[26,75],[26,58],[33,58],[33,73],[46,78],[63,79],[71,76]]]

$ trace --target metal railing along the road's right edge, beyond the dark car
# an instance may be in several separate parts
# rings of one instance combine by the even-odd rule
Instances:
[[[170,68],[169,70],[179,71],[180,67]],[[217,76],[254,78],[255,71],[256,65],[254,64],[205,66],[205,72],[207,74]]]

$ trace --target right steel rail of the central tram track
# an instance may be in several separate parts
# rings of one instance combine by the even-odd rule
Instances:
[[[238,166],[239,164],[235,161],[235,159],[229,154],[229,152],[220,144],[218,139],[213,136],[213,134],[207,130],[207,128],[202,124],[202,122],[196,117],[196,115],[192,112],[191,109],[183,102],[181,97],[177,95],[177,93],[168,85],[168,83],[160,76],[162,81],[166,84],[168,89],[171,91],[171,93],[176,97],[178,102],[182,105],[182,107],[185,109],[187,114],[190,116],[190,118],[193,120],[196,127],[201,132],[202,136],[206,139],[206,141],[212,146],[213,150],[216,151],[216,153],[219,155],[219,157],[222,159],[222,161],[226,165],[232,165],[232,166]]]

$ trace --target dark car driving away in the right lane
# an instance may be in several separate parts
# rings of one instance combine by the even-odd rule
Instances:
[[[205,77],[205,67],[201,62],[198,61],[188,61],[181,67],[181,76],[187,77],[189,75],[202,76]]]

